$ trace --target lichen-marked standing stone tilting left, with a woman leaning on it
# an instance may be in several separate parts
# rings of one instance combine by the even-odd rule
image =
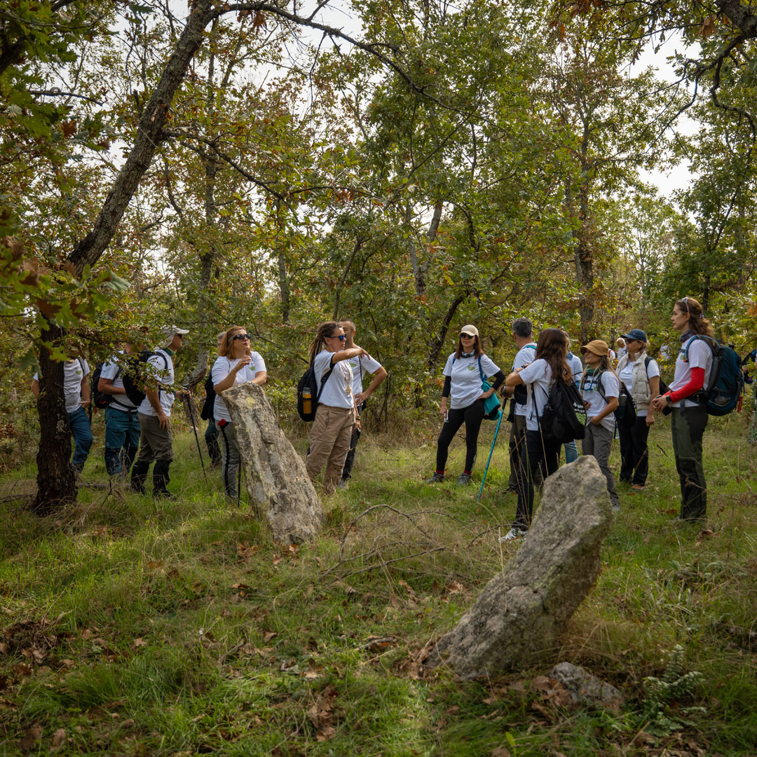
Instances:
[[[316,537],[323,506],[266,393],[257,384],[238,384],[223,392],[223,401],[234,423],[257,517],[282,544],[301,544]]]

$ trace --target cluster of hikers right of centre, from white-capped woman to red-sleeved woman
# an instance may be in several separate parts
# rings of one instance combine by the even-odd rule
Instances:
[[[612,508],[620,509],[615,476],[609,467],[615,438],[615,411],[621,385],[634,400],[636,419],[631,426],[618,424],[620,479],[629,491],[643,491],[649,473],[647,438],[656,413],[671,413],[671,432],[676,469],[681,484],[682,521],[706,516],[706,481],[702,468],[702,436],[707,425],[706,397],[712,369],[712,349],[701,335],[712,338],[712,326],[693,298],[675,303],[673,329],[680,335],[681,349],[670,387],[661,394],[660,369],[646,353],[647,337],[642,329],[631,329],[618,340],[618,362],[606,341],[593,339],[581,346],[583,360],[572,354],[570,338],[562,329],[544,329],[534,341],[528,318],[512,323],[517,353],[505,375],[484,353],[475,326],[463,326],[455,352],[444,366],[444,388],[439,410],[444,425],[437,444],[436,469],[429,484],[444,481],[447,452],[456,431],[466,424],[466,461],[457,482],[469,484],[478,448],[478,431],[484,419],[484,401],[504,384],[510,399],[512,422],[509,441],[509,491],[518,495],[516,516],[504,540],[525,536],[531,524],[534,487],[538,487],[559,466],[562,447],[565,462],[578,457],[575,441],[557,444],[544,438],[541,416],[558,378],[575,383],[586,413],[581,453],[597,459],[607,481]],[[488,379],[493,383],[488,384]],[[485,382],[485,383],[484,383]],[[447,407],[449,400],[449,408]]]

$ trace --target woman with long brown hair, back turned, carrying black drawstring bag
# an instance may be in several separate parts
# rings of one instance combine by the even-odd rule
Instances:
[[[569,384],[573,382],[573,372],[568,364],[568,339],[562,329],[544,329],[536,344],[534,362],[514,370],[505,381],[505,385],[512,388],[525,384],[528,392],[525,406],[525,475],[518,476],[516,519],[504,537],[507,540],[525,536],[531,525],[534,477],[540,463],[544,462],[547,476],[552,475],[559,466],[562,444],[550,444],[540,434],[540,417],[549,399],[550,388],[558,376]]]

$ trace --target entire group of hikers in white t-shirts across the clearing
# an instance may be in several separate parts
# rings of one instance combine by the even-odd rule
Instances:
[[[621,482],[631,492],[643,491],[649,471],[647,437],[656,413],[671,412],[671,429],[676,467],[681,482],[681,519],[701,519],[706,515],[706,483],[702,469],[702,435],[707,410],[702,401],[712,368],[712,350],[697,335],[712,337],[712,326],[702,307],[693,298],[676,302],[671,316],[679,332],[681,350],[668,391],[661,394],[659,366],[646,354],[646,333],[631,329],[618,340],[617,366],[608,344],[594,339],[581,346],[581,360],[570,350],[570,338],[562,329],[544,329],[534,341],[528,318],[512,323],[517,347],[512,369],[505,375],[483,350],[478,329],[469,324],[460,329],[456,350],[444,366],[444,388],[440,413],[444,424],[438,437],[436,468],[428,483],[444,481],[450,442],[459,428],[466,427],[466,459],[458,484],[470,484],[478,450],[478,432],[488,412],[485,403],[498,389],[510,399],[512,426],[509,437],[510,478],[508,488],[518,495],[512,528],[504,537],[525,535],[531,524],[534,487],[559,466],[562,444],[546,441],[540,432],[540,418],[557,378],[575,383],[584,401],[586,425],[581,453],[597,459],[607,481],[613,509],[619,509],[615,477],[609,467],[615,437],[615,410],[621,385],[633,397],[636,419],[633,425],[618,425],[621,452]],[[323,491],[345,488],[354,466],[360,438],[360,413],[371,394],[387,376],[386,369],[354,342],[355,323],[351,319],[322,323],[310,344],[309,362],[319,387],[317,409],[310,431],[306,469],[316,481],[324,466]],[[176,397],[173,356],[182,347],[188,331],[176,326],[163,329],[164,342],[144,358],[152,381],[145,398],[136,405],[126,394],[123,370],[133,347],[126,344],[122,354],[101,368],[97,390],[107,395],[105,410],[105,466],[109,475],[129,477],[134,491],[145,493],[149,468],[153,469],[153,494],[170,497],[167,490],[173,459],[170,414]],[[622,344],[620,344],[622,342]],[[205,434],[213,463],[222,468],[224,491],[238,497],[240,452],[234,423],[223,400],[223,392],[234,385],[268,379],[263,357],[251,349],[251,335],[241,326],[232,326],[217,335],[217,360],[211,369],[210,385],[215,392]],[[91,401],[89,366],[83,358],[64,366],[64,394],[71,434],[75,444],[72,465],[81,472],[92,446],[92,430],[86,414]],[[363,377],[372,381],[363,388]],[[491,384],[488,382],[491,380]],[[39,377],[32,390],[39,394]],[[219,446],[220,442],[220,446]],[[565,462],[578,458],[575,441],[564,445]]]

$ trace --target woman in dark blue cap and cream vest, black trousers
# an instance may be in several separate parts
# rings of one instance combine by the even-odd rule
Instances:
[[[631,492],[639,492],[644,489],[650,469],[646,440],[655,422],[651,402],[660,393],[660,369],[657,361],[646,354],[646,332],[631,329],[623,338],[627,352],[618,360],[618,378],[634,398],[636,422],[631,428],[618,424],[620,480],[631,484]]]

